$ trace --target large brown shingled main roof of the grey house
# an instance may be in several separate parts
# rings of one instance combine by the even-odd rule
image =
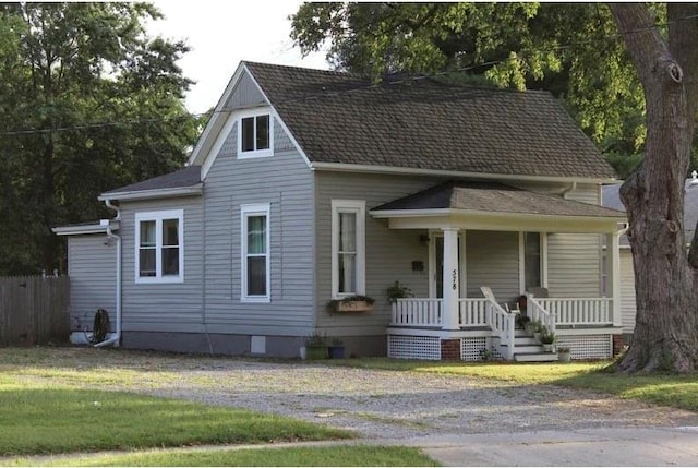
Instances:
[[[372,86],[356,74],[244,64],[311,161],[615,178],[546,92],[431,79]]]

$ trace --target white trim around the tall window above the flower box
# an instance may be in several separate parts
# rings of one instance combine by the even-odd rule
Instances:
[[[339,292],[339,213],[357,214],[357,290]],[[332,200],[332,298],[341,299],[365,295],[366,290],[366,202],[363,200]]]

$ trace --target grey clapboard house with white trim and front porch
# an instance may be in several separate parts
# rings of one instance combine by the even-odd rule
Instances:
[[[554,359],[515,331],[528,293],[573,358],[603,358],[623,327],[614,180],[549,93],[241,62],[184,169],[55,231],[76,339],[104,308],[129,348],[298,357],[318,333],[356,356]],[[395,281],[413,297],[392,304]],[[373,310],[327,308],[354,296]]]

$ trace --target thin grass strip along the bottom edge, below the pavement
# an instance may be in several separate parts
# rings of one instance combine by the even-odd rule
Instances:
[[[217,451],[151,451],[124,455],[94,455],[40,466],[438,466],[418,448],[366,445],[332,447],[243,448]],[[32,466],[19,459],[12,466]]]

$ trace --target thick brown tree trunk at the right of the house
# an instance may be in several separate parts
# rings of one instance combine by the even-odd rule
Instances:
[[[670,45],[646,4],[611,4],[647,106],[645,161],[621,188],[633,249],[637,319],[622,372],[694,371],[698,285],[684,240],[684,181],[696,100],[696,7],[670,4]]]

